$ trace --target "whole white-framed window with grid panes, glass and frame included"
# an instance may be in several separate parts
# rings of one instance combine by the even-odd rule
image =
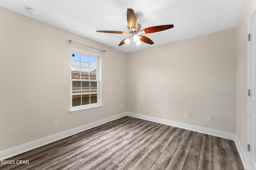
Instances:
[[[70,112],[101,107],[100,55],[71,49]]]

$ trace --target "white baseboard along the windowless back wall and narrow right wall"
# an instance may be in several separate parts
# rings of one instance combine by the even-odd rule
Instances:
[[[138,119],[143,119],[143,120],[146,120],[146,121],[161,123],[161,124],[164,124],[164,125],[169,125],[169,126],[173,126],[173,127],[183,128],[183,129],[192,130],[192,131],[195,131],[195,132],[210,134],[212,136],[217,136],[217,137],[221,137],[221,138],[234,140],[234,142],[236,144],[236,148],[238,150],[238,153],[239,153],[240,158],[242,160],[242,163],[244,165],[244,169],[246,169],[247,157],[246,157],[246,154],[244,154],[244,150],[242,149],[242,146],[241,146],[236,134],[229,133],[229,132],[223,132],[223,131],[220,131],[220,130],[214,130],[214,129],[210,129],[210,128],[203,128],[203,127],[198,127],[198,126],[194,126],[194,125],[188,125],[188,124],[185,124],[185,123],[178,123],[178,122],[174,122],[174,121],[168,121],[166,119],[159,119],[159,118],[156,118],[156,117],[150,117],[150,116],[140,115],[140,114],[136,114],[136,113],[127,112],[126,115],[130,116],[130,117],[135,117],[135,118],[138,118]]]

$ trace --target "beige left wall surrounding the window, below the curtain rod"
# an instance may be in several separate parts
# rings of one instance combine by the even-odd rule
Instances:
[[[126,53],[4,8],[0,23],[0,150],[126,111]],[[69,112],[71,47],[102,55],[100,109]]]

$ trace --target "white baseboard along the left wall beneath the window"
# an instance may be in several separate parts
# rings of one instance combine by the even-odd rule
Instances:
[[[68,136],[72,136],[72,135],[77,134],[79,132],[83,132],[84,130],[88,130],[90,128],[100,126],[104,123],[114,121],[114,120],[119,119],[121,117],[124,117],[126,115],[127,115],[126,112],[121,113],[119,115],[114,115],[112,117],[108,117],[106,119],[102,119],[102,120],[99,120],[99,121],[96,121],[96,122],[92,122],[92,123],[89,123],[87,125],[83,125],[81,127],[73,128],[73,129],[70,129],[70,130],[67,130],[67,131],[64,131],[64,132],[60,132],[58,134],[54,134],[54,135],[51,135],[51,136],[47,136],[45,138],[34,140],[32,142],[28,142],[26,144],[22,144],[20,146],[16,146],[14,148],[10,148],[10,149],[7,149],[7,150],[0,151],[0,160],[4,160],[4,159],[10,158],[12,156],[27,152],[28,150],[32,150],[34,148],[44,146],[46,144],[49,144],[51,142],[55,142],[55,141],[60,140],[62,138],[66,138]]]

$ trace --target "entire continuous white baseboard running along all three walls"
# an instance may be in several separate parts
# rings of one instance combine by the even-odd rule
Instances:
[[[244,164],[244,168],[246,169],[247,158],[246,158],[246,155],[244,154],[244,151],[242,149],[242,146],[240,145],[240,142],[239,142],[236,134],[228,133],[228,132],[222,132],[220,130],[214,130],[214,129],[210,129],[210,128],[203,128],[203,127],[198,127],[198,126],[194,126],[194,125],[188,125],[188,124],[185,124],[185,123],[178,123],[178,122],[174,122],[174,121],[168,121],[166,119],[160,119],[160,118],[150,117],[150,116],[146,116],[146,115],[139,115],[139,114],[130,113],[130,112],[125,112],[125,113],[121,113],[119,115],[114,115],[112,117],[108,117],[106,119],[102,119],[102,120],[99,120],[99,121],[96,121],[96,122],[92,122],[92,123],[89,123],[87,125],[83,125],[81,127],[73,128],[73,129],[70,129],[70,130],[67,130],[67,131],[64,131],[64,132],[60,132],[58,134],[54,134],[54,135],[51,135],[51,136],[47,136],[45,138],[34,140],[32,142],[28,142],[26,144],[22,144],[20,146],[16,146],[14,148],[10,148],[10,149],[7,149],[7,150],[0,151],[0,160],[10,158],[12,156],[21,154],[21,153],[26,152],[28,150],[32,150],[34,148],[38,148],[38,147],[43,146],[45,144],[55,142],[56,140],[60,140],[62,138],[66,138],[68,136],[72,136],[72,135],[77,134],[79,132],[83,132],[84,130],[88,130],[90,128],[100,126],[104,123],[114,121],[114,120],[119,119],[119,118],[124,117],[124,116],[135,117],[135,118],[143,119],[143,120],[146,120],[146,121],[152,121],[152,122],[161,123],[161,124],[164,124],[164,125],[169,125],[169,126],[178,127],[178,128],[184,128],[184,129],[192,130],[192,131],[195,131],[195,132],[210,134],[212,136],[217,136],[217,137],[221,137],[221,138],[234,140],[234,142],[236,144],[236,147],[237,147],[237,150],[238,150],[238,153],[240,155],[240,158],[241,158],[241,160]]]

